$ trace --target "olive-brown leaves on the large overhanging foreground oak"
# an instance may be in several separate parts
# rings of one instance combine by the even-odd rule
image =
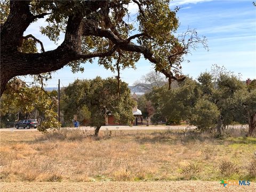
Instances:
[[[1,20],[5,21],[9,14],[9,3],[4,0],[2,2],[1,15],[3,18],[1,17]],[[131,15],[127,9],[131,3],[138,5],[137,18],[135,15]],[[43,18],[47,15],[45,17],[47,26],[40,27],[40,30],[55,44],[62,34],[65,34],[63,44],[69,44],[72,41],[70,33],[77,34],[77,31],[67,30],[74,27],[68,23],[68,18],[71,16],[78,20],[83,18],[78,24],[81,27],[77,34],[79,36],[78,46],[75,48],[70,45],[69,48],[85,55],[106,53],[114,45],[118,46],[113,54],[99,56],[98,59],[99,65],[111,71],[135,68],[135,63],[140,59],[142,53],[146,59],[155,64],[156,71],[165,74],[170,80],[179,78],[182,75],[180,69],[181,62],[184,60],[183,55],[187,54],[189,49],[195,49],[197,44],[206,46],[206,39],[199,38],[194,30],[188,30],[183,35],[175,34],[179,27],[176,15],[179,9],[177,7],[171,10],[169,0],[134,2],[125,0],[101,3],[99,1],[30,1],[27,4],[30,9],[29,14],[33,14],[36,18]],[[72,21],[69,22],[72,23]],[[91,26],[90,29],[84,29],[83,26],[86,25]],[[94,29],[109,30],[111,31],[110,36],[114,35],[117,40],[101,33],[94,36],[90,31]],[[140,34],[133,36],[134,31],[139,31]],[[132,38],[129,38],[131,36]],[[126,50],[123,48],[125,44],[132,47]],[[35,53],[37,52],[35,45],[33,40],[28,39],[23,42],[21,51]],[[93,57],[83,59],[80,57],[81,55],[79,57],[76,55],[73,60],[65,64],[70,66],[74,73],[84,70],[81,66],[84,62],[93,62]]]

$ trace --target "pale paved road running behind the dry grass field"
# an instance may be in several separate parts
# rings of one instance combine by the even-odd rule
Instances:
[[[167,130],[167,129],[186,129],[188,127],[188,129],[195,129],[195,126],[181,126],[181,125],[175,125],[175,126],[101,126],[100,130],[104,131],[104,130]],[[89,126],[81,126],[79,128],[75,128],[75,127],[67,127],[67,129],[81,129],[81,130],[94,130],[94,127],[89,127]],[[37,129],[23,129],[23,128],[8,128],[8,129],[0,129],[0,132],[3,131],[37,131]]]

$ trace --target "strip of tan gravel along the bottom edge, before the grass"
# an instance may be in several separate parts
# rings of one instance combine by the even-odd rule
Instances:
[[[210,181],[154,181],[154,182],[2,182],[1,191],[256,191],[250,186],[223,187]]]

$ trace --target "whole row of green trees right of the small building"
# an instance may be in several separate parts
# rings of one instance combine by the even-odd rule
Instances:
[[[199,75],[197,81],[186,78],[178,87],[155,87],[146,94],[155,113],[153,121],[167,118],[167,123],[187,121],[201,131],[217,128],[219,133],[233,122],[256,126],[256,93],[254,82],[247,87],[224,67],[214,65],[211,72]],[[251,130],[251,131],[250,131]]]

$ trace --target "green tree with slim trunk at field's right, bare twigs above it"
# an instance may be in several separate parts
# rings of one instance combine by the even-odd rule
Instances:
[[[211,72],[204,72],[197,78],[202,99],[218,107],[219,117],[216,124],[220,135],[222,130],[234,121],[239,120],[241,111],[236,110],[235,93],[245,90],[243,82],[225,67],[213,65]],[[214,110],[213,113],[215,114]]]

